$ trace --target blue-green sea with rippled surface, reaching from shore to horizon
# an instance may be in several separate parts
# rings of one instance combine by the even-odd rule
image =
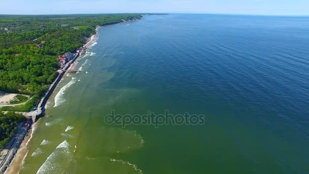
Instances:
[[[19,173],[309,173],[309,17],[147,15],[97,33]]]

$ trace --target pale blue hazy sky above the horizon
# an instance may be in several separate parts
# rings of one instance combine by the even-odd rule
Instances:
[[[309,0],[1,0],[0,14],[210,13],[309,15]]]

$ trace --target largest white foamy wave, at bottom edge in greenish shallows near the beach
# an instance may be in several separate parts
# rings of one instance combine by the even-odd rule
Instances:
[[[70,152],[70,144],[67,140],[61,142],[41,165],[37,174],[44,173],[65,173],[66,167],[73,162],[73,155]]]

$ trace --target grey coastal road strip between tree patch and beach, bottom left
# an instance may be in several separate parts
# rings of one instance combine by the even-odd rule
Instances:
[[[23,124],[19,124],[17,128],[17,133],[10,140],[8,146],[0,153],[0,173],[4,173],[8,165],[11,163],[14,158],[24,136],[28,132],[28,126],[23,126]]]

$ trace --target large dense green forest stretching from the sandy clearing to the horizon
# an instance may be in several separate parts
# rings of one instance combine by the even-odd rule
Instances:
[[[135,18],[141,15],[0,15],[0,91],[42,96],[57,76],[57,55],[81,47],[97,25]]]

